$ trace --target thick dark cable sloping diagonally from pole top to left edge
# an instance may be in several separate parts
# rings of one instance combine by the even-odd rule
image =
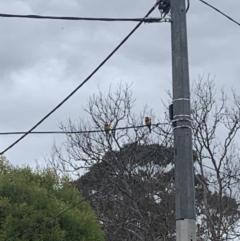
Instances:
[[[148,11],[144,18],[147,18],[159,5],[159,2],[156,2],[154,6]],[[143,19],[144,19],[143,18]],[[19,141],[25,138],[29,133],[31,133],[34,129],[36,129],[42,122],[44,122],[51,114],[53,114],[59,107],[61,107],[70,97],[72,97],[87,81],[117,52],[117,50],[129,39],[129,37],[142,25],[143,20],[141,20],[133,30],[120,42],[120,44],[98,65],[98,67],[93,70],[93,72],[77,87],[75,88],[63,101],[61,101],[53,110],[51,110],[46,116],[44,116],[36,125],[34,125],[28,132],[26,132],[23,136],[13,142],[10,146],[8,146],[5,150],[3,150],[0,155],[3,155],[6,151],[14,147]]]

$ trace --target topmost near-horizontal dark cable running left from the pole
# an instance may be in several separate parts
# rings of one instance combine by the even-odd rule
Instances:
[[[0,13],[2,18],[27,18],[27,19],[48,19],[48,20],[68,20],[68,21],[105,21],[105,22],[143,22],[143,23],[158,23],[161,18],[90,18],[90,17],[57,17],[57,16],[42,16],[42,15],[22,15],[22,14],[6,14]]]

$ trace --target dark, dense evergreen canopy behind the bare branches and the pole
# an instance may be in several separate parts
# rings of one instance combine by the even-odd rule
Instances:
[[[193,156],[196,162],[196,153]],[[90,202],[103,223],[107,241],[112,240],[113,234],[117,241],[176,240],[173,158],[172,148],[157,144],[125,145],[121,154],[107,152],[101,162],[75,182],[86,197],[96,192]],[[104,188],[108,183],[113,185]],[[196,173],[197,217],[207,222],[203,183],[207,179]],[[236,199],[222,195],[220,210],[216,205],[219,198],[218,192],[208,190],[212,225],[217,227],[221,212],[228,224],[236,223],[240,218]],[[200,237],[208,235],[209,230],[198,228]]]

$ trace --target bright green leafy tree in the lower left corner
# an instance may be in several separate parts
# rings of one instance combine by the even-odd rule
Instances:
[[[51,170],[13,167],[1,158],[0,240],[103,241],[94,212],[81,200],[79,191]]]

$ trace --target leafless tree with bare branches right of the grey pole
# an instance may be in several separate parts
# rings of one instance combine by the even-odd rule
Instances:
[[[202,200],[197,203],[198,232],[204,240],[239,237],[240,96],[233,90],[218,95],[214,80],[203,76],[192,90],[194,150],[197,182]],[[201,177],[201,178],[200,178]]]

